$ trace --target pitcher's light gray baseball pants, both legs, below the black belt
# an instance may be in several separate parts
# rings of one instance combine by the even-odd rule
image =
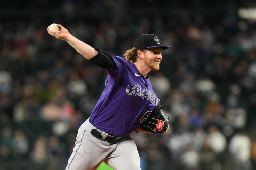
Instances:
[[[92,129],[96,128],[89,119],[78,129],[66,170],[96,170],[102,162],[115,170],[141,170],[139,153],[131,137],[110,144],[104,140],[107,133],[97,129],[103,136],[98,139],[90,133]]]

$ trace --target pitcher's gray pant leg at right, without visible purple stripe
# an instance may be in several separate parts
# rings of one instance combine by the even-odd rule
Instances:
[[[105,163],[115,170],[141,170],[139,153],[133,139],[121,140]]]

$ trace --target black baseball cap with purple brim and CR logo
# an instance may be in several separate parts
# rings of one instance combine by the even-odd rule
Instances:
[[[161,45],[160,39],[154,34],[142,34],[134,42],[136,49],[147,49],[153,47],[161,47],[162,50],[169,49],[169,46]]]

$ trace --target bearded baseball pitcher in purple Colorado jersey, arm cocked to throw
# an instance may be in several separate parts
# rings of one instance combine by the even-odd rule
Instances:
[[[93,170],[105,162],[116,170],[140,170],[137,147],[130,137],[133,131],[163,133],[169,129],[164,106],[152,89],[148,73],[159,70],[161,44],[153,34],[140,35],[124,58],[92,48],[72,36],[66,28],[47,31],[67,41],[86,59],[108,73],[106,88],[90,118],[78,129],[75,147],[66,170]]]

